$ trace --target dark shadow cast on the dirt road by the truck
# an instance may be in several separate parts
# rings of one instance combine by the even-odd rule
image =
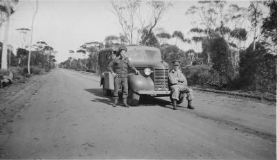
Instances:
[[[113,98],[111,96],[105,96],[104,94],[102,94],[102,89],[98,88],[98,89],[84,89],[84,90],[98,97],[91,100],[91,102],[106,103],[107,105],[112,105]],[[121,103],[122,94],[121,93],[118,93],[118,94],[119,94],[118,96],[120,97],[118,103]],[[138,107],[149,107],[149,106],[157,106],[157,105],[160,107],[172,109],[171,101],[163,100],[161,98],[153,98],[153,97],[141,97],[141,100],[139,100]],[[177,107],[182,107],[182,106],[178,105]]]

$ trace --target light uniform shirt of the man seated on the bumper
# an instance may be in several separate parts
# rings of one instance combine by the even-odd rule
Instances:
[[[188,85],[185,75],[181,73],[181,70],[179,69],[177,71],[175,71],[175,69],[172,69],[169,72],[168,77],[171,85],[177,85],[178,82],[181,82],[181,85],[185,85],[185,86]]]

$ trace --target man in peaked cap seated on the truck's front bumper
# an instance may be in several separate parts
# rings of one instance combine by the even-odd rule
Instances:
[[[184,91],[187,94],[186,99],[188,100],[188,109],[194,109],[192,105],[193,100],[193,89],[188,88],[188,82],[186,77],[181,70],[179,69],[180,62],[175,60],[172,62],[174,65],[174,69],[169,72],[169,80],[170,80],[170,89],[172,91],[172,100],[173,100],[173,109],[177,110],[176,103],[179,100],[179,94],[181,91]]]

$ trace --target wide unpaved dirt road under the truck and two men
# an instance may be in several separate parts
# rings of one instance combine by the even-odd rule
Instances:
[[[195,110],[174,111],[169,98],[114,108],[99,80],[45,75],[1,131],[0,158],[276,159],[275,103],[195,91]]]

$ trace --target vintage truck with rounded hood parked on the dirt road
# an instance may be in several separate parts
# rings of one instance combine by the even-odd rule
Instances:
[[[120,46],[102,49],[99,52],[98,64],[100,69],[100,86],[105,96],[111,96],[114,91],[114,77],[108,71],[107,66],[116,57],[116,51]],[[136,75],[128,71],[128,105],[139,105],[143,96],[170,96],[171,91],[168,82],[169,66],[161,59],[158,48],[150,46],[127,45],[126,56],[139,70]],[[180,94],[177,104],[184,100],[184,93]]]

